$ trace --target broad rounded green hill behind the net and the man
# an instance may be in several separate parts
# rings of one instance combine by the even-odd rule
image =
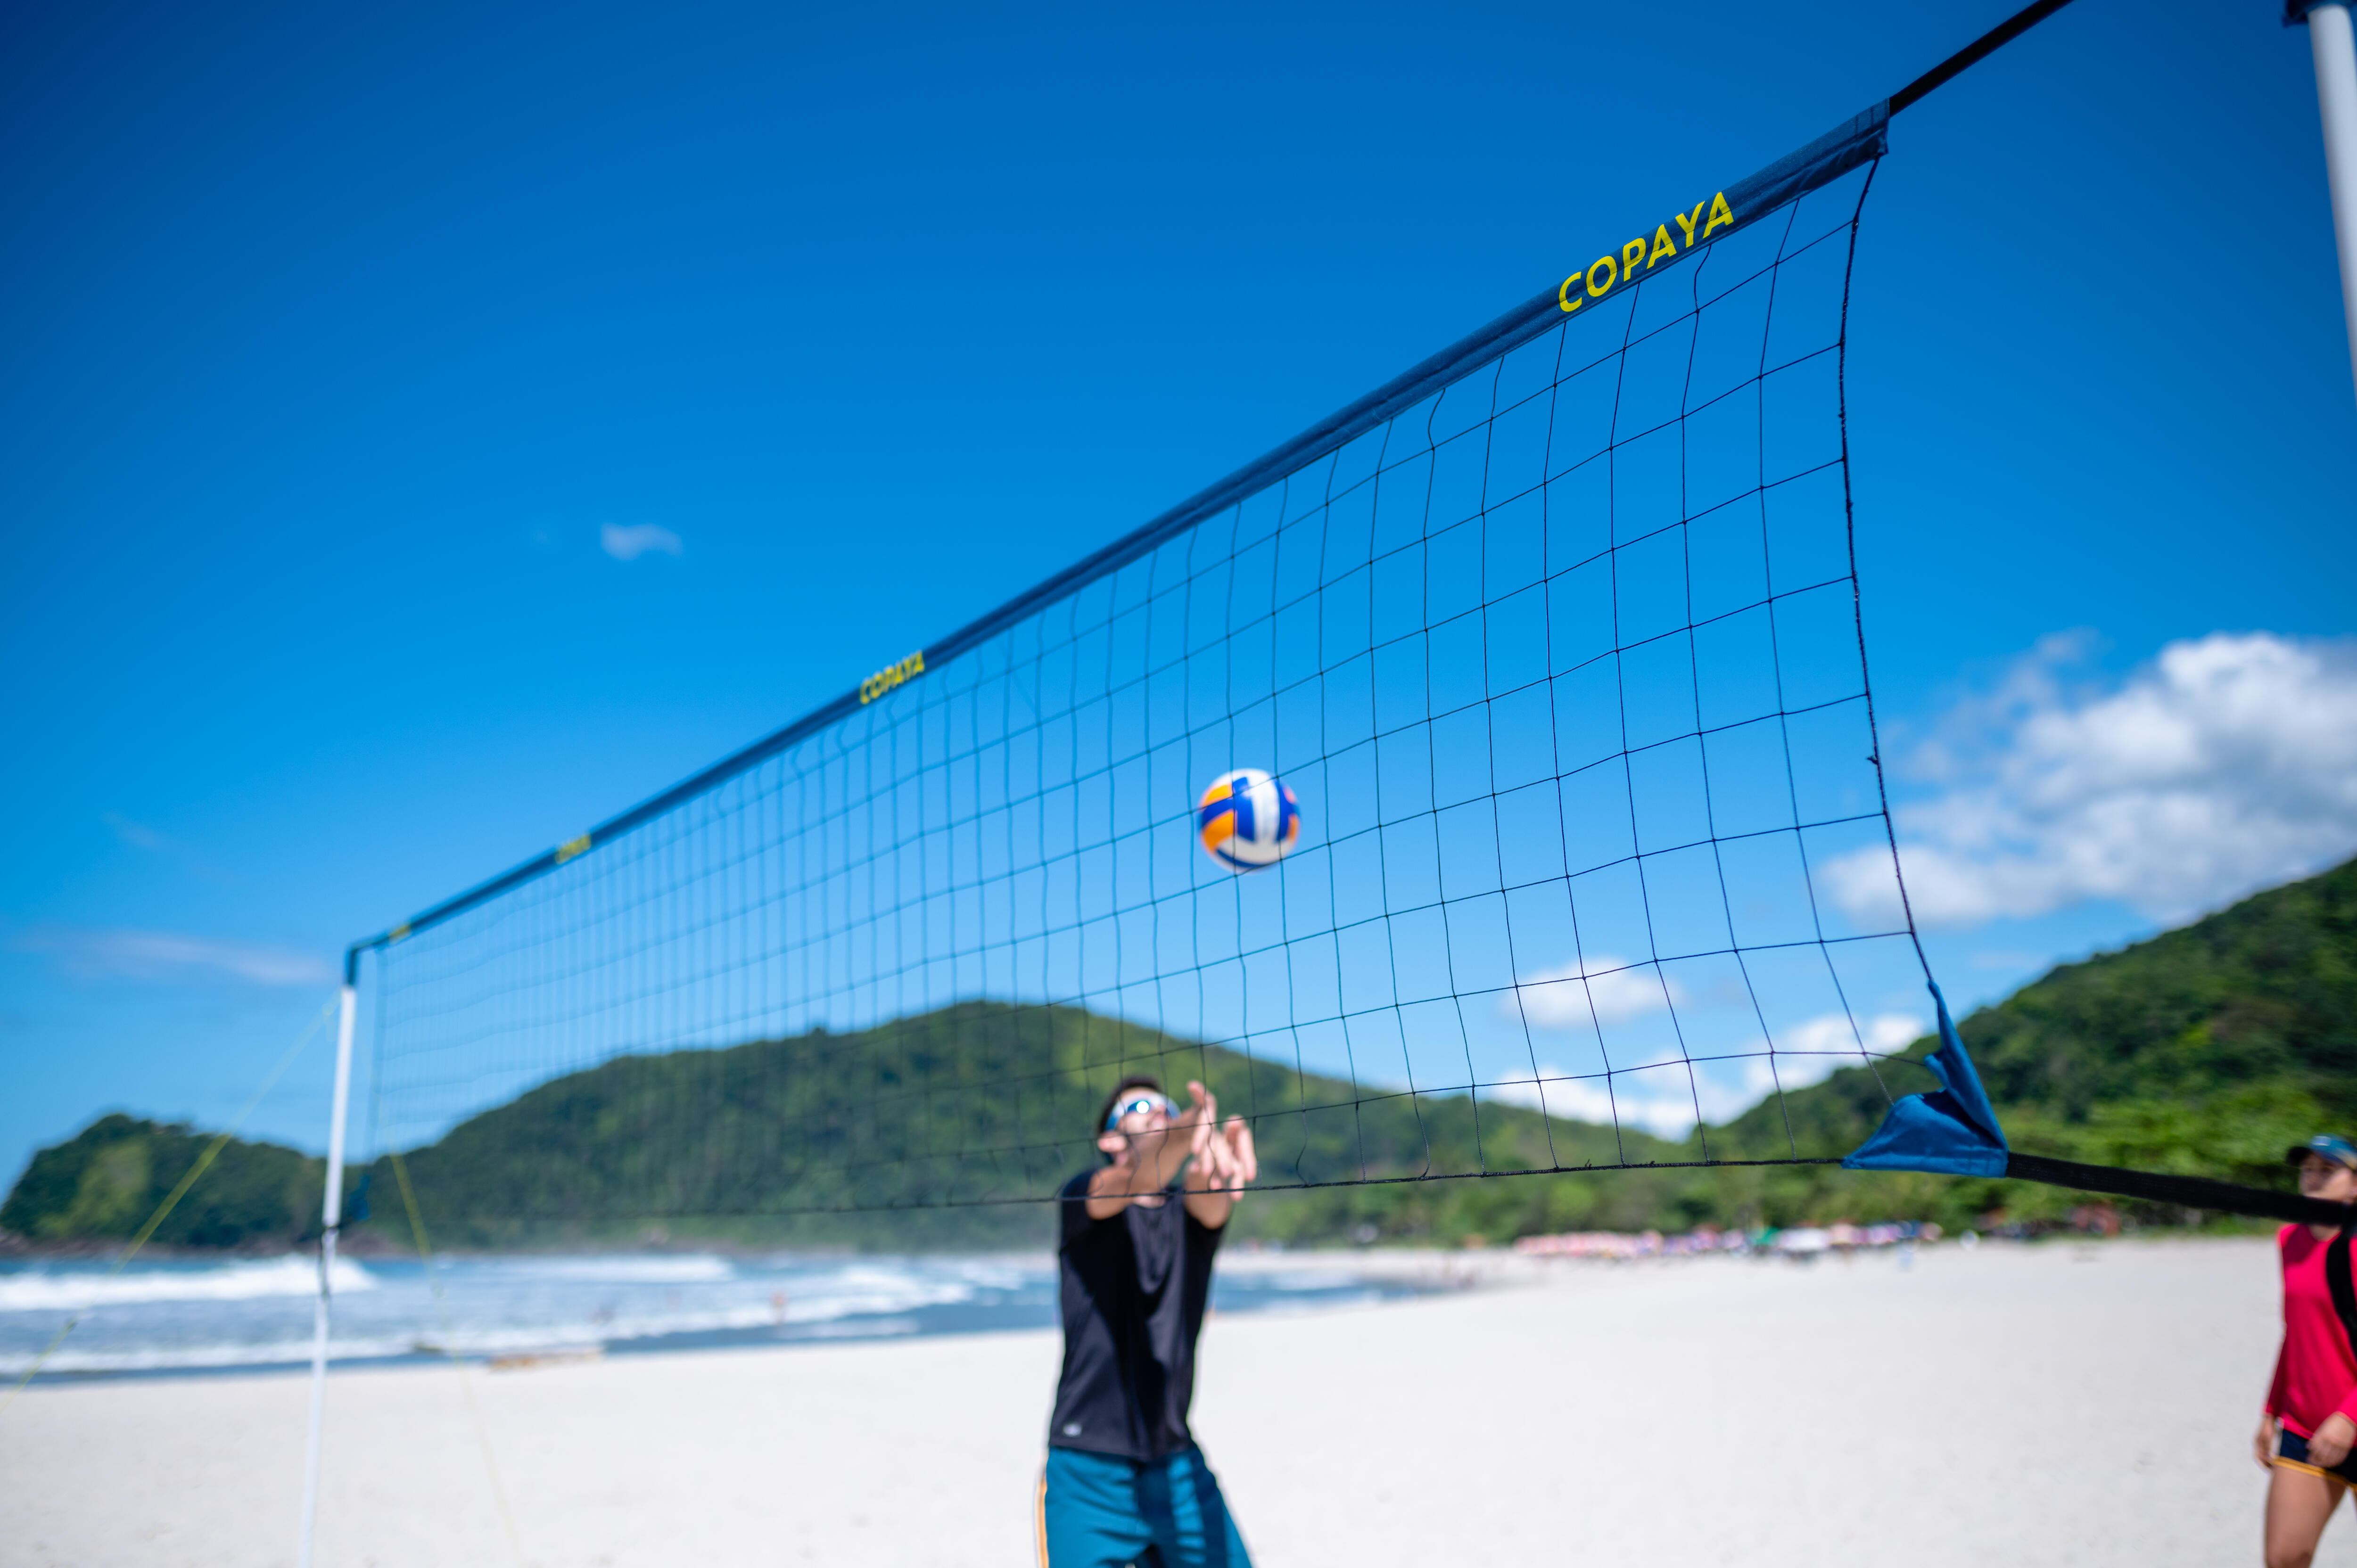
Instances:
[[[860,1035],[625,1056],[486,1111],[408,1158],[429,1228],[462,1240],[719,1231],[865,1245],[1025,1245],[1096,1162],[1089,1127],[1124,1070],[1204,1080],[1252,1111],[1270,1184],[1673,1160],[1676,1144],[1466,1096],[1360,1103],[1348,1085],[1070,1007],[969,1002]],[[1513,1236],[1648,1224],[1692,1179],[1386,1184],[1256,1198],[1247,1233]],[[1483,1188],[1483,1191],[1475,1191]],[[401,1226],[389,1162],[379,1226]],[[971,1207],[922,1205],[955,1193]],[[674,1219],[700,1217],[700,1219]]]

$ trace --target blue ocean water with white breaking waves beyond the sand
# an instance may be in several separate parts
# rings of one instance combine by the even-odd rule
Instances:
[[[0,1377],[283,1368],[311,1358],[309,1257],[0,1261]],[[1336,1269],[1214,1273],[1214,1311],[1287,1311],[1412,1294]],[[1047,1257],[490,1254],[339,1259],[337,1361],[676,1351],[804,1339],[962,1335],[1056,1323]]]

